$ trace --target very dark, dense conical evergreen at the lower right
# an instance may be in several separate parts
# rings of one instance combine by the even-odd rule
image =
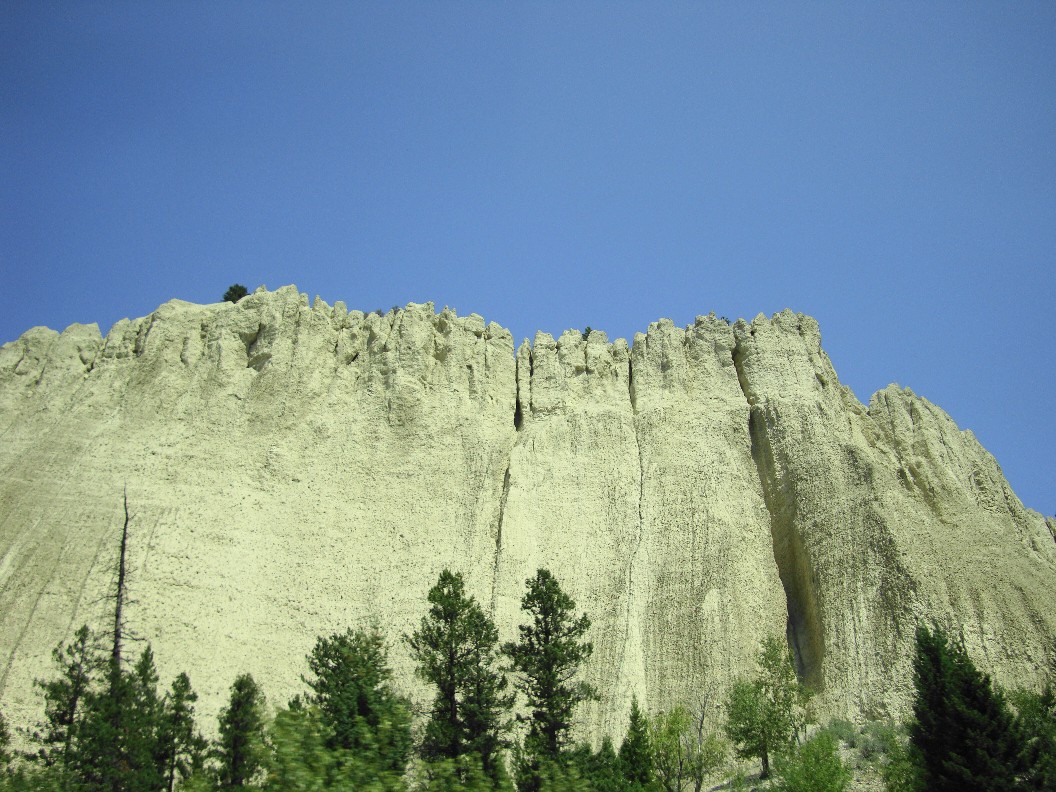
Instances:
[[[913,685],[909,739],[924,788],[1015,789],[1022,768],[1012,715],[964,644],[919,626]]]

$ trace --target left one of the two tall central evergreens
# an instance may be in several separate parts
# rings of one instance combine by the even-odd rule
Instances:
[[[429,614],[408,638],[418,676],[437,690],[421,757],[457,759],[475,754],[484,772],[496,779],[514,698],[506,693],[506,676],[495,670],[498,630],[466,596],[461,574],[440,572],[429,603]]]

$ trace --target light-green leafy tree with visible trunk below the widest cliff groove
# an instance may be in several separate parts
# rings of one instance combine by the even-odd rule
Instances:
[[[736,680],[727,697],[724,729],[737,756],[758,757],[762,777],[768,777],[770,755],[788,750],[806,727],[810,698],[796,678],[788,646],[768,637],[756,675]]]

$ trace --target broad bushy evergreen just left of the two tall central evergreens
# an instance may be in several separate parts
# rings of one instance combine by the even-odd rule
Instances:
[[[353,752],[378,772],[401,775],[411,754],[410,703],[392,686],[384,638],[377,627],[320,638],[305,682],[331,749]]]

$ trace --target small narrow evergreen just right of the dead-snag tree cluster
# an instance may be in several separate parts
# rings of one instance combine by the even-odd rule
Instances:
[[[252,781],[264,767],[264,694],[249,674],[242,674],[220,712],[220,788],[239,789]]]

